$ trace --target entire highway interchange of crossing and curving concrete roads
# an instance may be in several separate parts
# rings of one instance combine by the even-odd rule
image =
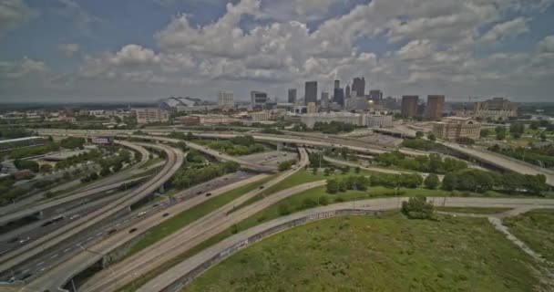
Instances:
[[[78,130],[41,130],[43,134],[55,134],[55,135],[81,135],[81,136],[95,136],[100,134],[113,134],[117,135],[122,139],[141,139],[148,140],[150,142],[171,142],[176,143],[179,140],[171,139],[167,137],[160,136],[145,136],[145,135],[132,135],[128,131],[78,131]],[[149,132],[149,135],[152,134],[163,134],[166,135],[169,133],[169,130],[157,130],[156,132]],[[218,139],[229,139],[236,137],[240,134],[235,133],[195,133],[200,137],[205,138],[218,138]],[[303,169],[303,166],[308,162],[307,152],[302,148],[302,146],[310,147],[348,147],[353,151],[358,151],[366,154],[378,154],[386,150],[383,147],[378,147],[371,145],[360,145],[357,141],[340,141],[339,139],[327,138],[327,139],[317,139],[314,137],[294,137],[290,135],[265,135],[265,134],[254,134],[253,137],[258,141],[266,142],[279,142],[285,143],[287,145],[296,145],[299,146],[298,152],[300,157],[300,162],[297,163],[296,167],[291,171],[282,172],[281,174],[275,176],[272,181],[264,183],[264,188],[253,190],[250,193],[245,193],[241,195],[238,199],[235,199],[231,203],[227,203],[218,210],[211,212],[197,220],[196,222],[189,224],[182,228],[175,234],[169,235],[168,237],[160,240],[154,245],[141,250],[136,255],[132,255],[122,261],[119,261],[111,266],[108,269],[103,269],[98,272],[96,275],[92,276],[87,282],[84,283],[82,287],[79,287],[79,291],[116,291],[118,288],[123,287],[130,281],[133,281],[148,273],[150,270],[167,262],[169,259],[176,255],[180,255],[188,250],[191,247],[198,245],[210,238],[213,235],[217,235],[229,228],[232,224],[236,224],[243,219],[248,218],[252,214],[263,210],[264,208],[277,203],[282,199],[289,197],[295,193],[301,193],[305,190],[312,189],[317,186],[324,185],[322,182],[314,183],[305,183],[292,187],[291,189],[283,190],[278,193],[273,193],[271,196],[262,198],[261,200],[246,205],[245,207],[238,209],[237,211],[231,212],[235,209],[236,206],[241,205],[256,196],[259,193],[262,193],[263,190],[271,187],[272,185],[282,182],[294,172],[298,172]],[[127,147],[141,147],[140,143],[134,141],[122,141],[122,143],[127,143]],[[236,158],[229,155],[223,154],[219,151],[210,150],[207,147],[194,144],[191,142],[186,142],[187,146],[190,149],[196,149],[202,151],[208,155],[211,155],[218,160],[223,161],[234,161],[239,162],[246,171],[248,172],[236,172],[233,174],[228,174],[221,178],[212,180],[208,183],[202,183],[195,187],[190,188],[189,190],[183,191],[181,193],[175,194],[177,200],[165,199],[159,203],[147,206],[139,210],[129,211],[128,208],[133,203],[139,202],[142,198],[148,196],[151,193],[155,193],[156,190],[163,183],[169,181],[170,177],[180,168],[181,163],[184,159],[184,153],[181,151],[169,147],[163,144],[150,144],[150,147],[159,148],[162,151],[167,153],[168,159],[166,164],[163,166],[162,170],[159,171],[156,175],[149,178],[145,183],[139,185],[128,192],[118,193],[114,197],[114,200],[108,200],[107,198],[102,199],[105,201],[98,201],[101,203],[91,204],[87,209],[82,207],[78,211],[82,217],[76,218],[74,221],[69,222],[65,221],[63,224],[54,225],[56,228],[50,227],[50,229],[45,229],[45,232],[38,236],[35,241],[30,241],[26,245],[19,246],[14,251],[10,250],[5,254],[0,254],[0,271],[3,271],[4,276],[15,275],[19,278],[26,277],[26,285],[24,289],[26,291],[44,291],[45,289],[50,289],[51,291],[56,290],[58,287],[63,287],[67,282],[75,276],[79,271],[86,269],[88,266],[92,266],[97,263],[99,260],[108,260],[109,253],[113,252],[116,248],[121,245],[128,243],[133,238],[139,236],[140,234],[146,232],[149,228],[153,228],[161,222],[168,220],[174,214],[179,214],[182,211],[188,210],[194,205],[205,202],[212,197],[216,197],[221,193],[227,192],[234,188],[237,188],[246,183],[251,183],[257,180],[267,177],[269,172],[275,172],[276,167],[274,166],[278,162],[285,160],[290,160],[292,156],[286,154],[282,157],[275,155],[273,157],[263,156],[260,157],[253,155],[252,157],[243,157]],[[134,145],[134,146],[133,146]],[[145,144],[146,145],[146,144]],[[421,151],[410,151],[402,150],[406,154],[410,155],[422,155]],[[458,151],[464,151],[458,150]],[[475,153],[474,153],[475,155]],[[489,153],[487,153],[489,155]],[[143,155],[143,157],[148,155]],[[269,157],[269,159],[268,159]],[[331,159],[333,160],[333,159]],[[516,163],[509,160],[503,160],[502,157],[494,157],[495,163],[501,164],[501,167],[505,168],[514,168],[513,165],[509,163]],[[498,161],[500,160],[500,161]],[[143,162],[144,163],[144,162]],[[344,162],[336,162],[338,164]],[[350,162],[348,162],[350,163]],[[354,165],[350,165],[354,166]],[[520,165],[516,165],[517,168],[520,168]],[[526,166],[527,167],[527,166]],[[523,168],[525,172],[531,172],[528,168]],[[391,172],[390,170],[379,170],[379,169],[369,169],[375,172]],[[254,173],[262,173],[255,175]],[[549,172],[541,172],[536,168],[532,168],[532,172],[540,172],[550,175]],[[113,182],[117,182],[125,178],[121,175],[118,178],[114,178]],[[550,181],[550,176],[549,183]],[[112,181],[110,181],[112,182]],[[99,183],[103,184],[103,183]],[[90,190],[97,190],[100,185],[95,185],[90,188]],[[89,191],[90,191],[89,190]],[[84,192],[86,193],[86,192]],[[205,193],[210,193],[210,197],[203,195]],[[82,194],[82,193],[81,193]],[[517,206],[529,205],[533,206],[547,206],[551,207],[554,205],[551,201],[540,200],[529,202],[516,202],[510,201],[506,203],[505,201],[475,201],[472,198],[464,198],[457,202],[456,200],[452,201],[452,198],[445,199],[446,205],[451,205],[451,203],[459,203],[467,206],[489,206],[489,205],[502,205],[512,203]],[[359,210],[382,210],[383,208],[397,208],[399,200],[402,199],[390,199],[385,203],[380,203],[379,199],[377,201],[367,201],[367,202],[358,202],[354,203],[354,207]],[[391,201],[393,200],[393,201]],[[109,202],[112,201],[112,202]],[[102,204],[105,204],[102,206]],[[93,207],[96,206],[96,207]],[[357,206],[356,206],[357,205]],[[367,207],[369,205],[369,207]],[[330,211],[342,210],[345,206],[353,206],[353,203],[346,204],[335,204],[328,206]],[[42,209],[41,209],[42,208]],[[42,206],[39,209],[31,209],[33,213],[36,213],[36,210],[45,210],[46,207]],[[325,209],[327,210],[327,209]],[[73,210],[77,212],[76,210]],[[313,209],[302,214],[318,214],[321,212],[320,209]],[[31,211],[26,211],[31,212]],[[1,216],[0,220],[8,220],[6,218],[14,218],[16,215],[9,217]],[[167,215],[162,215],[167,214]],[[291,216],[283,217],[277,220],[288,220],[290,218],[295,218],[294,215],[302,214],[292,214]],[[287,219],[288,218],[288,219]],[[11,220],[11,219],[10,219]],[[292,219],[291,219],[292,220]],[[281,221],[279,221],[281,222]],[[271,223],[268,223],[271,225]],[[253,229],[252,231],[247,232],[256,232],[256,230],[262,230],[268,224],[261,224]],[[133,230],[133,232],[129,232]],[[246,232],[245,232],[246,233]],[[239,234],[242,235],[243,233]],[[246,234],[245,234],[246,235]],[[233,236],[231,238],[235,238]],[[229,240],[231,240],[229,238]],[[237,238],[241,238],[240,236]],[[221,244],[226,243],[226,241],[221,242]],[[223,248],[223,245],[214,245],[212,248]],[[1,247],[1,245],[0,245]],[[228,246],[227,246],[228,247]],[[188,268],[194,268],[194,265],[201,263],[202,259],[208,258],[217,252],[218,249],[209,248],[198,255],[191,257],[189,260],[181,263],[178,266],[181,266],[179,272],[175,271],[174,268],[169,269],[166,273],[155,277],[152,279],[147,286],[141,287],[141,291],[158,291],[162,288],[168,287],[175,283],[179,284],[180,279],[186,275],[185,271]],[[220,250],[221,252],[221,250]],[[193,260],[194,259],[194,260]],[[193,261],[193,264],[190,264]],[[183,268],[182,265],[185,265]],[[18,283],[15,283],[17,287]],[[20,283],[19,283],[20,285]]]

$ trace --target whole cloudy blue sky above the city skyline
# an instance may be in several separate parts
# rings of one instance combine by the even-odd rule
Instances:
[[[554,101],[554,0],[0,0],[0,102],[384,95]]]

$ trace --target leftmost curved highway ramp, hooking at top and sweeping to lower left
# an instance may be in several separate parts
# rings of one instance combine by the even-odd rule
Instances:
[[[162,151],[165,151],[167,153],[168,162],[156,176],[149,180],[148,183],[139,186],[139,188],[133,192],[128,193],[112,203],[108,203],[92,214],[89,214],[87,217],[83,217],[67,224],[62,228],[57,229],[55,232],[45,235],[37,239],[35,242],[25,245],[14,252],[2,255],[0,257],[0,262],[2,263],[0,265],[0,271],[8,271],[14,266],[32,260],[37,255],[45,252],[47,253],[51,248],[55,248],[56,245],[59,245],[68,238],[76,236],[87,230],[87,228],[91,228],[95,224],[102,222],[104,219],[128,209],[131,204],[138,202],[150,193],[154,193],[163,183],[169,181],[171,176],[179,170],[180,165],[183,162],[183,154],[177,149],[164,145],[156,145],[153,147],[157,147]]]

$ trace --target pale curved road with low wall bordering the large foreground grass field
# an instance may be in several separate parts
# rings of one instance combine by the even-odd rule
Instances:
[[[138,292],[153,291],[180,291],[180,287],[186,285],[194,276],[210,266],[220,262],[225,257],[232,255],[246,245],[272,235],[283,229],[313,222],[314,220],[333,217],[341,214],[341,211],[386,211],[397,209],[399,204],[408,198],[384,198],[371,199],[353,203],[336,203],[329,206],[314,208],[299,213],[287,215],[271,222],[260,224],[249,230],[233,235],[219,244],[210,246],[199,254],[190,257],[177,266],[173,266],[159,276],[151,279],[146,285],[139,287]],[[490,198],[429,198],[430,202],[444,206],[464,207],[506,207],[526,210],[534,208],[554,208],[554,200],[543,199],[490,199]],[[354,212],[353,212],[354,213]],[[352,214],[352,213],[350,213]]]

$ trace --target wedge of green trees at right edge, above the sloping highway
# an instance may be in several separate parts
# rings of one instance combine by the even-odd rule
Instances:
[[[495,144],[489,147],[488,150],[540,167],[554,167],[554,146],[552,145],[530,148],[501,148],[498,144]]]

